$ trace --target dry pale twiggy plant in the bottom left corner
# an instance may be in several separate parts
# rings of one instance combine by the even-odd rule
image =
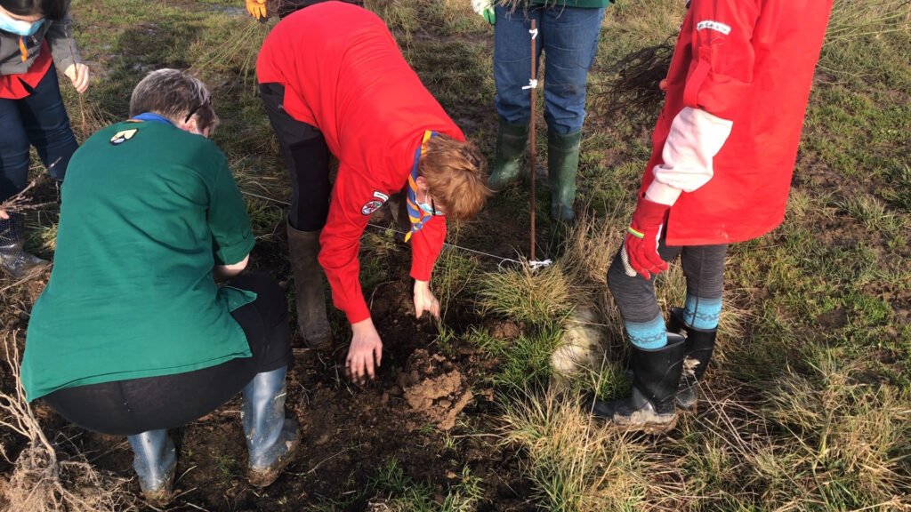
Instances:
[[[12,338],[12,339],[10,339]],[[29,512],[128,512],[138,510],[124,478],[99,473],[82,460],[59,460],[56,450],[26,402],[20,383],[16,333],[4,337],[6,363],[15,393],[0,393],[0,426],[26,437],[28,446],[15,460],[9,482],[0,487],[10,510]]]

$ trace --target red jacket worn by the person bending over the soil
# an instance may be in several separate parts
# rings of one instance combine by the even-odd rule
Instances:
[[[402,190],[426,130],[465,140],[404,61],[383,20],[350,4],[311,5],[283,19],[256,63],[261,84],[285,87],[292,118],[320,128],[339,159],[320,263],[335,307],[351,323],[370,317],[358,279],[370,214]],[[429,281],[445,241],[444,217],[411,238],[411,276]]]

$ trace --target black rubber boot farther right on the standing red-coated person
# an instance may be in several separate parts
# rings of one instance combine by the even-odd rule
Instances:
[[[683,317],[681,308],[671,309],[668,332],[686,338],[686,358],[683,360],[683,374],[680,387],[677,388],[676,402],[681,409],[691,409],[699,399],[699,383],[709,366],[711,353],[715,350],[718,330],[690,327],[683,321]]]

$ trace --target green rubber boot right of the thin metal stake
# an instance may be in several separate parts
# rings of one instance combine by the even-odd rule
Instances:
[[[582,130],[560,135],[548,131],[548,184],[550,185],[550,217],[559,222],[572,222],[576,213],[576,174]]]

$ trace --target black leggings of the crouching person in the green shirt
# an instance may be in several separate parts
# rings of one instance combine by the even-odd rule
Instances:
[[[230,285],[256,292],[256,301],[231,312],[252,357],[183,374],[143,377],[59,389],[44,398],[59,415],[88,430],[135,435],[175,428],[208,415],[261,372],[292,363],[291,327],[284,292],[265,274],[239,276]]]

